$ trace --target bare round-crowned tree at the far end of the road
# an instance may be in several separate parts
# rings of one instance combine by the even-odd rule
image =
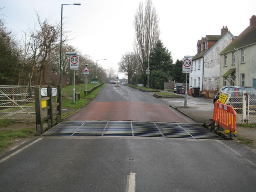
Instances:
[[[136,54],[132,52],[123,54],[118,66],[120,72],[127,74],[128,84],[131,84],[132,76],[136,74],[139,66],[139,61]]]

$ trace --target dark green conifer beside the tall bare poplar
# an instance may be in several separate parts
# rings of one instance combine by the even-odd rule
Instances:
[[[164,47],[161,40],[157,41],[149,58],[150,70],[162,70],[166,72],[166,74],[170,74],[173,67],[172,55],[171,52]]]

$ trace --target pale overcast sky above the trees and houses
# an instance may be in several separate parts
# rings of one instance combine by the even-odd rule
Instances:
[[[256,14],[256,0],[152,0],[160,19],[160,39],[172,52],[174,62],[185,55],[196,54],[197,40],[220,35],[227,26],[238,36]],[[60,22],[61,4],[75,0],[0,0],[0,18],[20,35],[34,28],[36,12],[42,20]],[[64,30],[72,31],[68,43],[82,54],[90,55],[103,68],[118,70],[122,54],[133,51],[134,14],[140,0],[77,0],[81,6],[64,5]],[[88,66],[90,69],[90,66]],[[124,78],[119,73],[120,78]]]

